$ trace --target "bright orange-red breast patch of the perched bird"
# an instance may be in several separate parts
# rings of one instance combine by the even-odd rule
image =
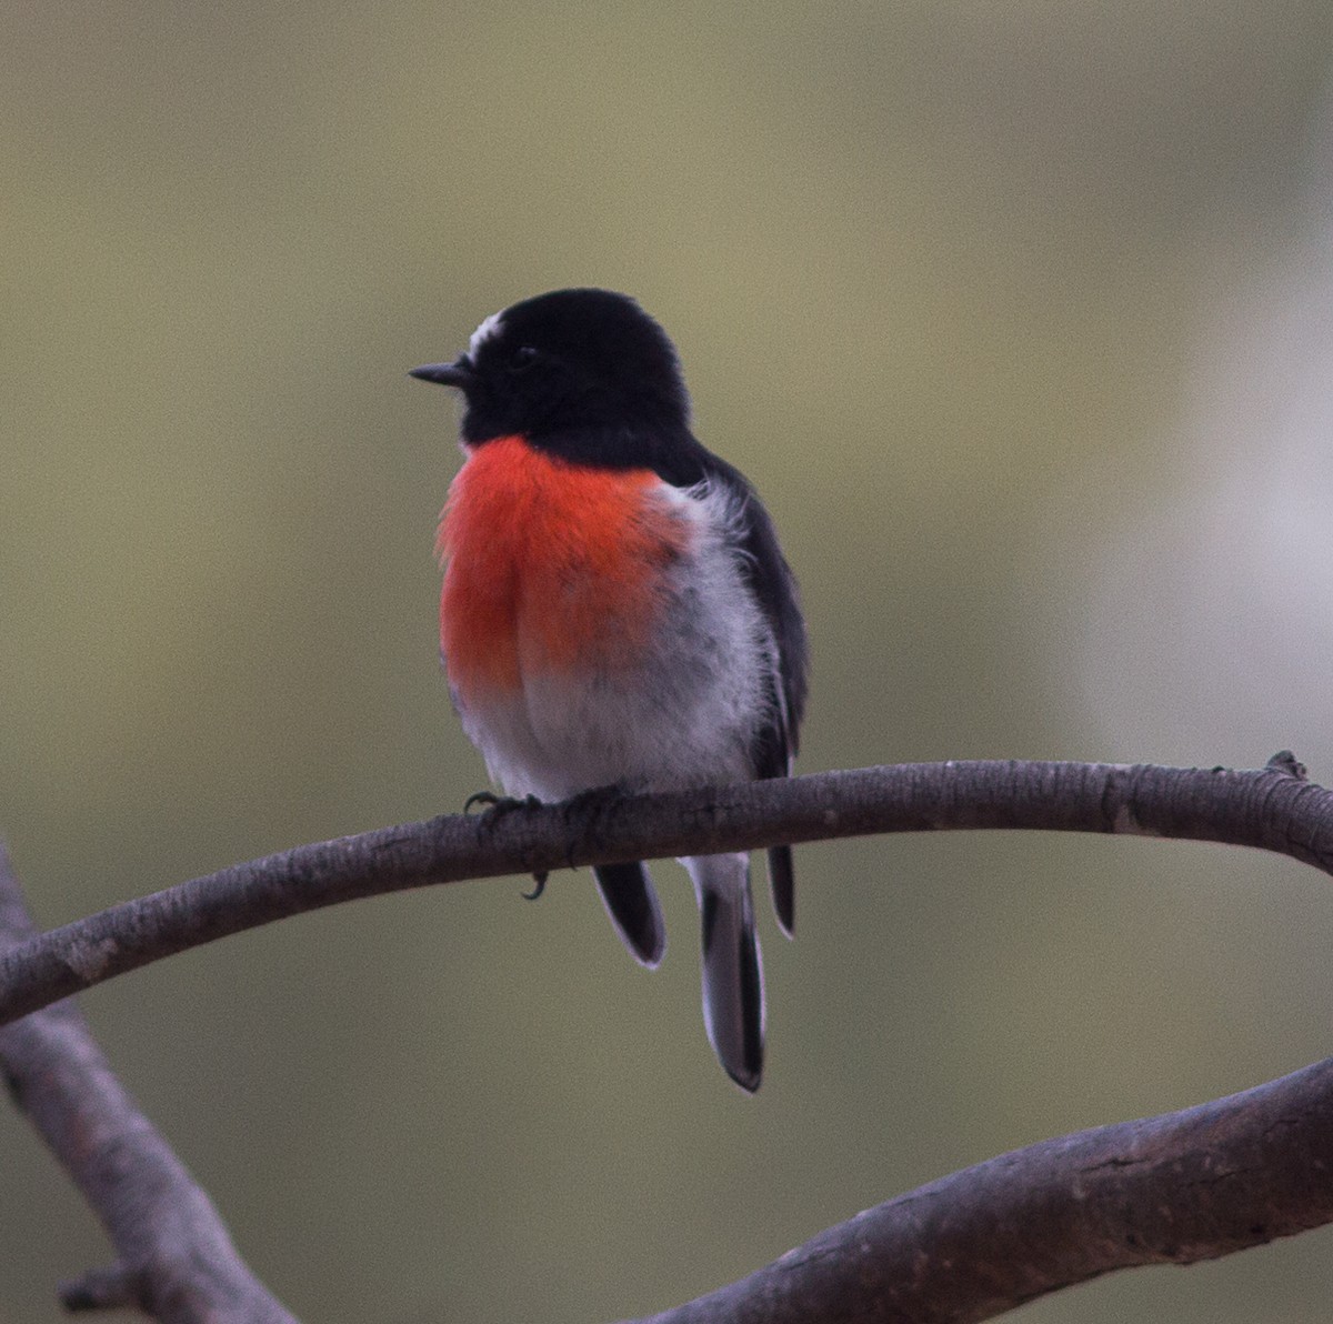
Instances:
[[[467,699],[524,675],[632,665],[689,523],[651,469],[592,469],[487,441],[449,488],[440,648]]]

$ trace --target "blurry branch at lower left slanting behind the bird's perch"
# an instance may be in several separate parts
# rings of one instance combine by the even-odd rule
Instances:
[[[0,952],[36,929],[0,845]],[[236,1253],[223,1220],[115,1077],[73,1003],[0,1029],[0,1069],[119,1256],[63,1284],[71,1311],[136,1307],[163,1324],[296,1324]]]

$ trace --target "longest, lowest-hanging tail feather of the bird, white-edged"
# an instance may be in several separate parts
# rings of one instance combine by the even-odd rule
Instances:
[[[726,1075],[753,1093],[764,1073],[764,969],[749,856],[681,861],[694,880],[704,925],[704,1025]]]

